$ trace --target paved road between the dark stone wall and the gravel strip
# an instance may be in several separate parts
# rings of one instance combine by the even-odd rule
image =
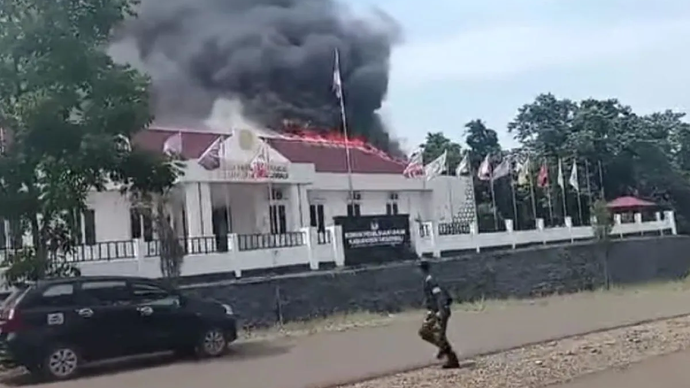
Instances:
[[[591,294],[456,313],[449,336],[466,356],[530,342],[690,313],[690,292]],[[237,344],[210,362],[161,363],[100,371],[54,388],[312,388],[427,364],[433,349],[416,336],[418,321]]]

